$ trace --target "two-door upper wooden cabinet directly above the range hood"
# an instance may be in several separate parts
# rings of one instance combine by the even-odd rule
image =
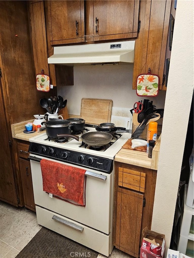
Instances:
[[[137,37],[139,0],[45,2],[52,45]]]

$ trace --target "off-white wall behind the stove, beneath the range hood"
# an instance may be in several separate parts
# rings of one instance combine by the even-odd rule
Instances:
[[[82,98],[110,99],[114,107],[132,108],[138,97],[132,90],[133,65],[77,66],[74,67],[74,86],[57,87],[58,95],[67,99],[69,114],[80,115]],[[163,108],[165,91],[153,100],[157,108]]]

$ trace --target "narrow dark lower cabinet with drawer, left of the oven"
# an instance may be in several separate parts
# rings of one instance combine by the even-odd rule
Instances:
[[[21,181],[22,181],[24,206],[32,211],[35,211],[30,161],[27,160],[29,156],[29,153],[28,153],[29,144],[17,142],[17,146],[18,146],[19,170],[20,170]]]

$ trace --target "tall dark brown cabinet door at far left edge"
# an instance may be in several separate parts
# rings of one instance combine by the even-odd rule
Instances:
[[[0,158],[0,199],[11,204],[18,204],[15,181],[12,168],[12,159],[10,154],[9,137],[7,122],[4,113],[4,103],[2,98],[2,87],[0,80],[0,141],[1,158]]]

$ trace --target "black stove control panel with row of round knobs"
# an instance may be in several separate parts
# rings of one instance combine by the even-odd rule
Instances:
[[[89,154],[70,151],[48,145],[30,142],[28,152],[42,156],[42,158],[51,158],[70,164],[79,165],[85,168],[92,168],[110,174],[113,169],[113,160],[101,158]]]

